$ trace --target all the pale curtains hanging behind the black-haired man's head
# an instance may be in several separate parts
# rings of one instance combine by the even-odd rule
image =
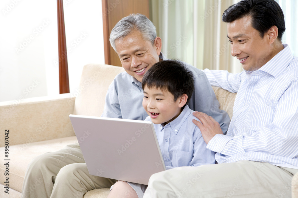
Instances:
[[[162,52],[199,69],[242,71],[240,62],[231,56],[226,23],[222,13],[240,0],[151,0],[152,21],[162,38]],[[285,14],[283,43],[298,56],[298,1],[276,0]]]

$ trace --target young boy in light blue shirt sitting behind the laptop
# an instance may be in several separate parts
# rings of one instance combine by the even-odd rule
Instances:
[[[214,164],[215,153],[206,148],[193,124],[187,103],[194,91],[193,73],[181,61],[160,61],[142,79],[143,107],[152,121],[167,169]],[[117,181],[108,197],[143,197],[146,185]]]

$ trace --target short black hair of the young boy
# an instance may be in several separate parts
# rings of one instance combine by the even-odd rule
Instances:
[[[178,60],[160,61],[154,64],[145,73],[142,79],[142,88],[160,88],[174,95],[174,101],[180,96],[188,96],[186,104],[190,101],[195,89],[193,73],[184,62]]]

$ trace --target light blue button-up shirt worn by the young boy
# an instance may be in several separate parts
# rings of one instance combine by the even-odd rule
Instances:
[[[186,105],[170,123],[153,124],[167,169],[215,164],[215,152],[206,148],[200,129],[193,124],[193,110]],[[151,121],[148,116],[145,121]]]

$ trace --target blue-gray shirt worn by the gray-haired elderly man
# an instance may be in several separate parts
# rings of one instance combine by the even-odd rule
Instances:
[[[167,60],[162,53],[159,57]],[[221,125],[222,131],[226,133],[230,123],[229,115],[219,109],[219,102],[205,73],[189,64],[187,66],[195,77],[195,91],[188,106],[194,111],[201,111],[212,116]],[[101,116],[145,120],[148,114],[142,106],[143,97],[142,84],[127,72],[122,72],[109,86]]]

